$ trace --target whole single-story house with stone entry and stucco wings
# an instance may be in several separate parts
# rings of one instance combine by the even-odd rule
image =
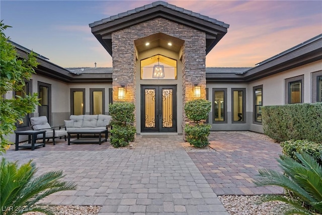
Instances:
[[[205,59],[229,25],[165,2],[90,27],[113,68],[66,69],[38,55],[25,91],[38,92],[42,106],[18,129],[30,129],[31,116],[60,125],[70,114],[108,114],[110,103],[128,101],[136,107],[137,133],[180,134],[185,103],[202,98],[212,103],[211,130],[263,132],[262,106],[322,102],[322,34],[255,67],[220,68],[206,67]],[[30,51],[14,45],[21,57]]]

